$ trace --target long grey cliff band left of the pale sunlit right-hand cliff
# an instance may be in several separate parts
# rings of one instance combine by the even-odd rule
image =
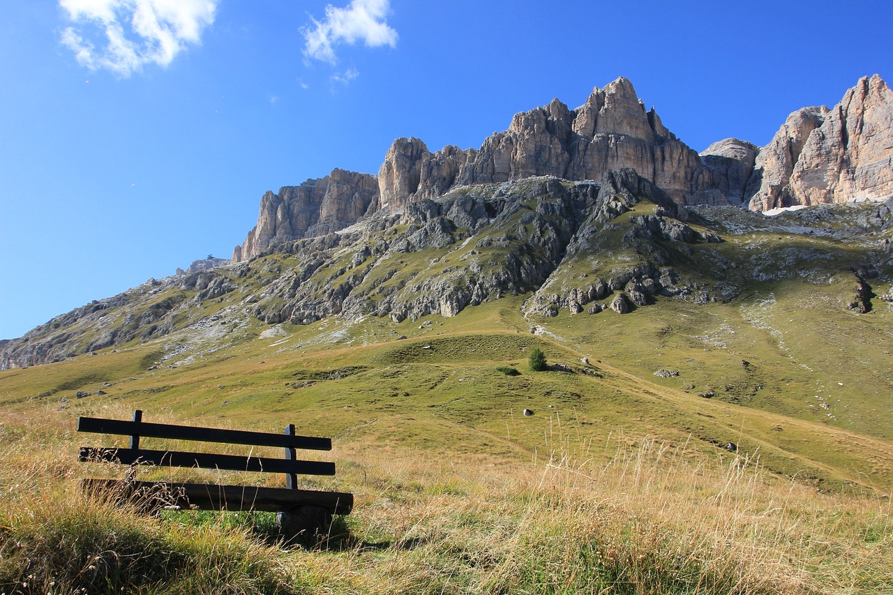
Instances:
[[[739,181],[730,183],[726,171],[703,163],[621,78],[596,88],[577,109],[555,99],[515,114],[508,130],[487,138],[480,149],[447,146],[432,153],[418,138],[398,138],[377,178],[336,170],[279,194],[267,192],[257,225],[234,250],[233,262],[257,256],[276,242],[343,229],[380,208],[401,213],[413,201],[442,197],[462,186],[544,175],[601,180],[605,172],[625,168],[680,204],[741,202]]]

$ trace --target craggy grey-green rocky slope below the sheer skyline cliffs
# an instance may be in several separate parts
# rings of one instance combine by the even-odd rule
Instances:
[[[179,353],[182,333],[213,350],[267,325],[450,317],[523,294],[522,313],[534,321],[562,311],[627,314],[664,299],[723,303],[798,281],[851,288],[836,307],[867,312],[893,300],[881,289],[893,280],[891,206],[824,205],[778,217],[688,207],[631,169],[599,182],[538,176],[462,187],[244,263],[96,300],[7,342],[0,366],[168,335],[180,337],[168,346]]]

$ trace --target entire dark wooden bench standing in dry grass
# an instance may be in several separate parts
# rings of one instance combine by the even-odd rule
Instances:
[[[165,465],[200,467],[230,471],[260,471],[285,473],[285,488],[263,488],[244,485],[216,485],[212,483],[138,482],[132,480],[83,480],[86,490],[117,490],[143,505],[204,510],[263,510],[277,512],[277,522],[284,536],[311,535],[330,524],[331,515],[347,515],[354,507],[354,495],[342,492],[299,490],[297,475],[334,475],[335,464],[302,461],[296,449],[331,450],[331,439],[296,436],[290,424],[281,434],[245,432],[215,428],[146,423],[143,412],[136,411],[133,421],[79,417],[78,432],[96,432],[130,437],[129,448],[80,448],[81,461],[111,461],[122,465]],[[148,450],[139,447],[139,439],[164,438],[196,440],[251,446],[285,448],[284,458],[234,456],[213,453]]]

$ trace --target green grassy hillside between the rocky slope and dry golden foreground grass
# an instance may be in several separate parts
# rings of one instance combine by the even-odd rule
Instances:
[[[453,318],[285,325],[285,335],[210,353],[185,350],[201,341],[180,333],[6,371],[0,404],[56,406],[72,420],[126,404],[201,423],[296,423],[383,447],[525,458],[560,425],[575,443],[618,434],[688,441],[717,457],[759,455],[768,471],[822,489],[847,482],[889,492],[890,356],[864,345],[883,342],[889,309],[803,308],[801,298],[822,294],[796,284],[787,292],[533,321],[520,314],[523,297],[511,298]],[[546,331],[532,334],[535,323]],[[567,371],[531,372],[533,347]],[[655,376],[662,369],[678,375]]]

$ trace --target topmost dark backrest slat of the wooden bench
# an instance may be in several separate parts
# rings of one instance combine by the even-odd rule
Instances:
[[[246,432],[245,430],[224,430],[221,428],[197,428],[171,423],[130,422],[117,419],[103,419],[101,417],[79,417],[78,432],[170,438],[173,440],[200,440],[204,442],[250,444],[253,446],[305,448],[308,450],[332,449],[332,440],[330,438],[289,436],[288,434]]]

